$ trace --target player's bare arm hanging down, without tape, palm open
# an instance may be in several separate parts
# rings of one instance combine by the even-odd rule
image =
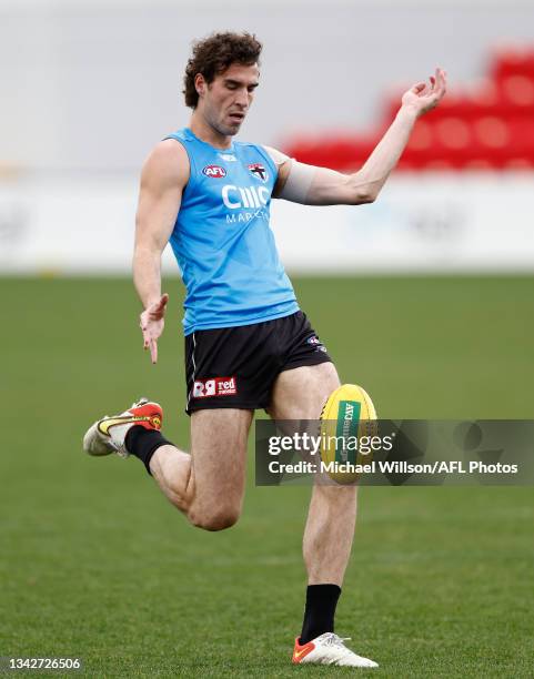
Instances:
[[[133,282],[143,304],[140,317],[144,348],[158,359],[169,295],[161,294],[161,254],[177,221],[182,191],[189,180],[189,159],[182,144],[160,142],[147,159],[135,219]]]

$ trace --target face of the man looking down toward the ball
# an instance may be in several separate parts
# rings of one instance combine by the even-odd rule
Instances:
[[[201,88],[198,108],[210,126],[224,136],[239,132],[259,84],[258,64],[232,63],[208,84],[197,75]]]

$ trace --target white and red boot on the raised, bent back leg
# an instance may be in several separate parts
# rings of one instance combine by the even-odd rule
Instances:
[[[121,457],[128,457],[124,439],[133,426],[145,429],[161,429],[163,411],[158,403],[141,398],[120,415],[102,417],[92,424],[83,437],[83,449],[89,455],[110,455],[117,453]]]

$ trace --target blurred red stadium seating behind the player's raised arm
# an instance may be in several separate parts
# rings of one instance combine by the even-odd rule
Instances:
[[[301,162],[337,170],[361,166],[399,110],[400,92],[386,97],[383,115],[365,134],[301,136],[285,143]],[[487,78],[449,92],[417,122],[399,170],[534,169],[534,47],[493,52]]]

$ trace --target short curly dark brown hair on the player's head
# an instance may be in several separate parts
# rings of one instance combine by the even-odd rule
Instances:
[[[193,53],[188,61],[183,78],[185,105],[195,109],[199,103],[199,93],[194,87],[197,73],[201,73],[210,83],[232,63],[259,64],[262,47],[254,34],[246,32],[212,33],[194,42]]]

